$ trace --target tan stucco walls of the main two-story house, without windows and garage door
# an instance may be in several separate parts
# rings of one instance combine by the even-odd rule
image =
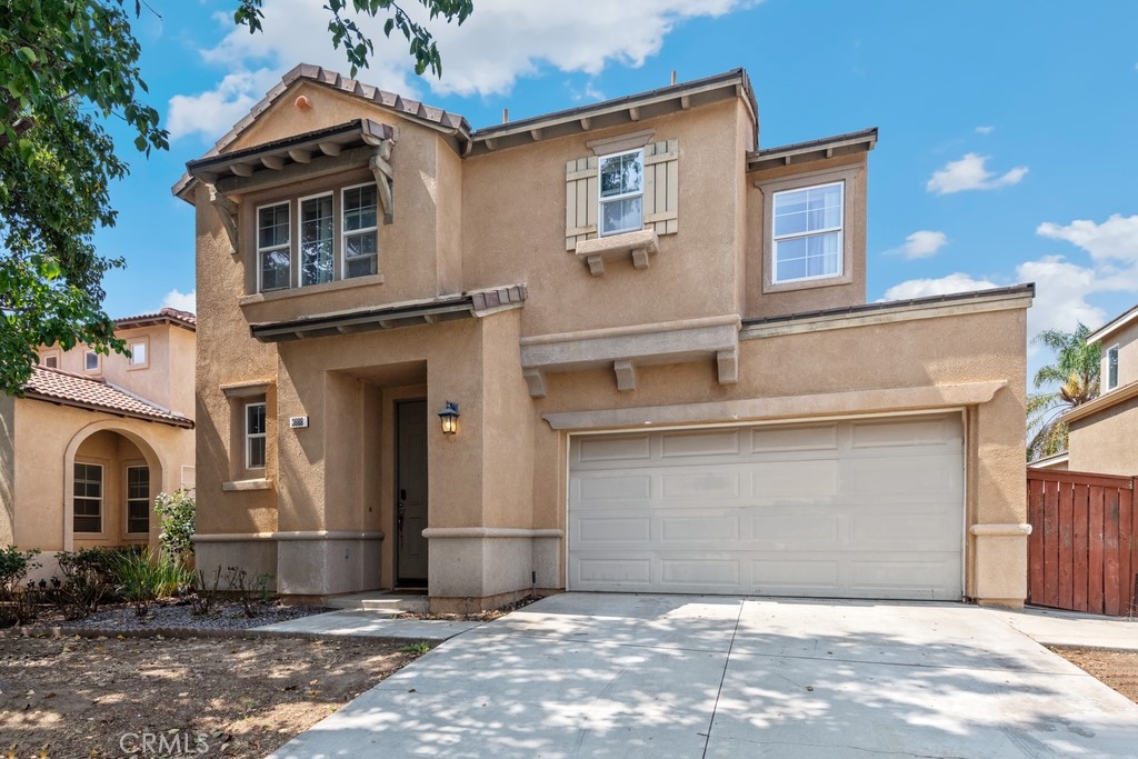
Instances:
[[[866,305],[876,132],[759,150],[756,112],[732,72],[471,131],[294,69],[175,187],[197,208],[199,564],[300,596],[420,583],[436,609],[488,607],[567,586],[571,435],[935,411],[964,420],[965,593],[1021,604],[1030,287]],[[597,237],[595,157],[637,150],[643,229]],[[258,209],[287,203],[299,238],[304,199],[382,196],[387,165],[378,273],[262,291]],[[840,271],[775,281],[772,198],[822,183],[843,188]],[[256,471],[249,398],[267,411]],[[428,410],[421,577],[399,558],[420,537],[401,531],[411,398]],[[434,416],[448,401],[453,436]]]

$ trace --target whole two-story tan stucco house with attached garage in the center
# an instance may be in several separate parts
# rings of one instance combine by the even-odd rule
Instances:
[[[198,564],[1022,603],[1033,288],[867,304],[876,140],[757,149],[741,69],[477,131],[292,69],[174,188]]]

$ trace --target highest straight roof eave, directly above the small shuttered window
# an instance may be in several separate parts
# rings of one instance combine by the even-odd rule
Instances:
[[[757,134],[759,106],[751,90],[750,79],[744,69],[734,68],[692,82],[479,129],[471,133],[463,157],[530,145],[539,140],[583,134],[612,126],[627,126],[729,98],[743,100]]]

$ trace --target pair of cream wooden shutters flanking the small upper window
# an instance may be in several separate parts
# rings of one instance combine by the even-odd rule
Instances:
[[[625,151],[627,152],[627,151]],[[617,152],[576,158],[566,164],[566,250],[599,233],[599,216],[608,199],[600,193],[601,163]],[[657,234],[679,231],[679,141],[643,147],[643,225]],[[626,204],[627,205],[627,204]],[[629,231],[627,223],[619,231]],[[607,232],[612,233],[612,232]]]

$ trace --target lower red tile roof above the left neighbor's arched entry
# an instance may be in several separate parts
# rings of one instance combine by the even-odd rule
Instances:
[[[35,366],[23,390],[24,397],[33,401],[104,411],[116,416],[131,416],[174,427],[193,427],[193,420],[127,393],[104,379],[73,374],[60,369]]]

